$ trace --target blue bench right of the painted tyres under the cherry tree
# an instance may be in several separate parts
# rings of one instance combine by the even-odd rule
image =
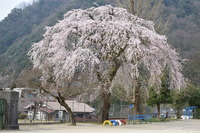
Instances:
[[[128,122],[132,122],[133,124],[135,124],[137,121],[140,123],[142,123],[142,121],[147,123],[150,120],[151,122],[151,119],[151,115],[128,115]]]

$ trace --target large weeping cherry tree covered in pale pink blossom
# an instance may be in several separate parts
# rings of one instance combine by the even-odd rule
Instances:
[[[125,64],[129,64],[127,71],[134,81],[139,76],[138,65],[143,62],[150,85],[160,85],[159,77],[166,67],[171,88],[180,89],[184,83],[178,54],[165,36],[155,32],[153,23],[110,5],[67,12],[62,21],[46,28],[44,39],[33,44],[29,56],[43,75],[45,66],[53,67],[56,82],[63,77],[87,78],[87,87],[92,84],[95,90],[93,96],[102,98],[102,121],[108,119],[112,82]],[[94,80],[98,81],[96,86]],[[60,92],[59,86],[55,90]]]

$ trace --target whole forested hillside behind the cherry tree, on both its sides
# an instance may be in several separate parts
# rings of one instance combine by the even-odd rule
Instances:
[[[16,79],[24,68],[31,65],[27,52],[33,42],[43,38],[45,26],[54,25],[69,10],[97,6],[94,2],[98,5],[117,6],[115,0],[39,0],[25,8],[13,9],[0,22],[0,74],[4,83],[1,86],[8,87],[12,81],[10,78]],[[163,0],[162,4],[164,8],[161,15],[169,20],[164,34],[182,58],[188,59],[185,76],[199,86],[200,1]],[[9,82],[4,81],[8,79]]]

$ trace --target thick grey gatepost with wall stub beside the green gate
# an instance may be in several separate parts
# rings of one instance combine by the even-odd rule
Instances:
[[[12,90],[5,90],[0,92],[0,98],[7,102],[7,112],[4,129],[18,130],[18,100],[19,93]]]

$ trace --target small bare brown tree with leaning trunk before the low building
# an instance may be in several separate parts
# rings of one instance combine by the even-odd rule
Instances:
[[[19,86],[38,88],[42,95],[50,95],[54,97],[59,104],[65,107],[68,111],[69,122],[71,125],[76,125],[73,112],[65,100],[74,99],[79,95],[84,95],[85,93],[92,93],[91,80],[93,79],[91,79],[92,77],[87,77],[87,74],[83,75],[83,73],[82,75],[76,73],[76,76],[73,78],[63,76],[59,79],[56,78],[54,74],[54,68],[48,65],[45,66],[43,71],[37,68],[25,70],[23,71],[20,80],[18,80],[18,84]],[[95,82],[93,82],[93,84],[95,84]],[[38,102],[36,101],[34,111],[36,111],[37,105]]]

